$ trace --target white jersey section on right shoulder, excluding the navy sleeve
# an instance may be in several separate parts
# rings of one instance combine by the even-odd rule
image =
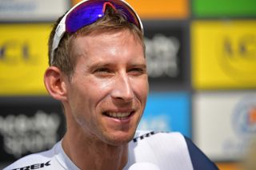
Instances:
[[[193,169],[180,132],[138,131],[130,141],[129,151],[129,165],[150,162],[160,169]]]

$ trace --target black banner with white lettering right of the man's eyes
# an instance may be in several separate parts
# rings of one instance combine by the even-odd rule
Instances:
[[[185,22],[145,21],[147,71],[151,90],[185,86],[188,61]]]

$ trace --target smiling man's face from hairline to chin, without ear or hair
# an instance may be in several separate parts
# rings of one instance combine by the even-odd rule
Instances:
[[[148,93],[142,44],[128,30],[76,38],[67,101],[77,132],[106,144],[132,139]]]

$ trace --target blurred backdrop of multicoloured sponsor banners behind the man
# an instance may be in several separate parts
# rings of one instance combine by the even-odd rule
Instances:
[[[51,26],[77,2],[0,0],[0,168],[65,132],[42,79]],[[127,2],[146,36],[150,95],[139,129],[182,132],[220,169],[256,167],[256,1]]]

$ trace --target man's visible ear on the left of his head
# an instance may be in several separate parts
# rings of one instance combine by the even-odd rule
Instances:
[[[50,66],[46,69],[44,83],[48,93],[58,101],[66,101],[66,77],[58,67]]]

